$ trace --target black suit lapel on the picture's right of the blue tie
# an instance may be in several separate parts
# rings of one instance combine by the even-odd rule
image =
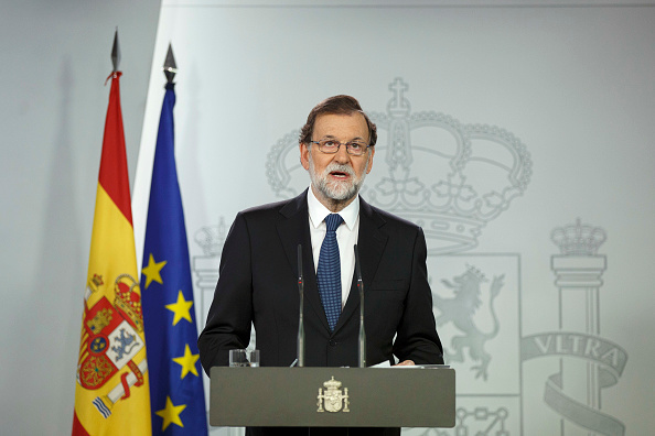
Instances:
[[[380,228],[384,225],[384,218],[380,217],[368,203],[359,197],[359,235],[357,237],[357,250],[359,251],[359,266],[362,269],[362,281],[364,282],[364,294],[366,294],[366,290],[368,290],[373,283],[385,246],[387,244],[388,237],[380,231]],[[345,323],[347,323],[358,307],[359,291],[357,290],[357,271],[355,271],[348,299],[346,301],[334,330],[339,330]]]

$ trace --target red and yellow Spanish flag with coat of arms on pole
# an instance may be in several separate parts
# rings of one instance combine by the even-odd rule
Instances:
[[[122,116],[120,73],[111,90],[75,385],[73,435],[150,435],[146,336]]]

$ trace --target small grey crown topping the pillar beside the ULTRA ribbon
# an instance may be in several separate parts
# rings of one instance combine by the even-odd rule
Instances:
[[[563,255],[594,255],[606,238],[603,229],[583,225],[580,218],[576,224],[558,227],[550,233],[550,239]]]

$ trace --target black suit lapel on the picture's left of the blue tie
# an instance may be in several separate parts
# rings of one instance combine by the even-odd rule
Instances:
[[[304,277],[305,310],[310,306],[325,327],[330,329],[328,317],[319,295],[316,272],[312,254],[312,241],[309,232],[309,212],[307,207],[307,189],[291,199],[280,209],[282,218],[278,221],[278,235],[287,259],[298,276],[298,244],[302,244],[302,270]]]

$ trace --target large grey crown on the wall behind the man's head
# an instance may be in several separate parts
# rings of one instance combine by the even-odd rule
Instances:
[[[423,228],[429,254],[477,246],[486,224],[523,195],[531,175],[525,145],[511,132],[462,124],[433,111],[411,112],[409,86],[396,78],[386,112],[368,112],[378,128],[376,167],[362,187],[374,206]],[[382,133],[386,131],[387,134]],[[279,140],[267,160],[268,183],[279,197],[298,195],[307,176],[298,164],[298,134]],[[379,170],[384,161],[386,168]],[[296,182],[294,178],[299,178]]]

